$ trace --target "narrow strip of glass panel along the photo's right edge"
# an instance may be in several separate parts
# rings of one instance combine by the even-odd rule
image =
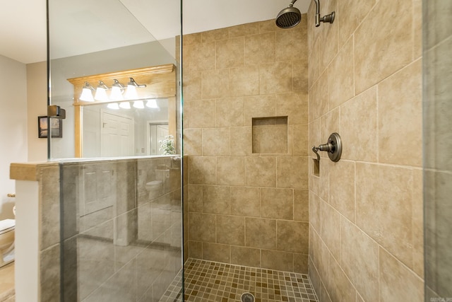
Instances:
[[[452,1],[423,1],[425,301],[452,301]]]

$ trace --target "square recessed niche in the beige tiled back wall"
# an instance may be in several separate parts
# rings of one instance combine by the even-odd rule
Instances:
[[[253,118],[253,153],[287,153],[287,117]]]

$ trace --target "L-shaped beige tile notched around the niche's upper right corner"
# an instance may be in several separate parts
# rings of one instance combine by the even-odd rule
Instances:
[[[287,116],[289,124],[307,124],[308,93],[282,93],[276,95],[276,115]]]

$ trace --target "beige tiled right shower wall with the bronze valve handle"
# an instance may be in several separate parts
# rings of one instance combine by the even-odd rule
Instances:
[[[325,0],[321,13],[336,19],[319,28],[309,8],[309,145],[343,139],[341,160],[323,154],[319,176],[309,161],[309,275],[321,301],[424,301],[420,5]]]

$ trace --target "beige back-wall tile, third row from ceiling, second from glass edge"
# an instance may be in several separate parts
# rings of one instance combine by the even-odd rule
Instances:
[[[204,99],[229,96],[229,69],[203,71],[201,81],[201,91]]]

